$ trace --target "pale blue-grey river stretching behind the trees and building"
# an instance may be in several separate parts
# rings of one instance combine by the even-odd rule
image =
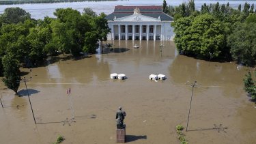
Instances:
[[[167,0],[168,5],[177,6],[180,5],[181,0]],[[217,3],[227,4],[232,8],[238,8],[239,4],[244,5],[246,1],[215,1],[215,0],[195,0],[195,7],[197,10],[201,9],[201,5],[203,3]],[[247,3],[255,4],[256,1],[247,1]],[[162,5],[162,0],[130,0],[130,1],[84,1],[84,2],[73,2],[73,3],[33,3],[33,4],[19,4],[19,5],[0,5],[0,14],[2,14],[5,8],[11,7],[20,7],[26,10],[31,14],[32,18],[35,19],[43,19],[45,16],[55,17],[53,12],[57,8],[72,8],[74,10],[79,10],[79,12],[83,12],[84,8],[91,8],[97,14],[104,12],[105,14],[111,14],[113,12],[115,5]]]

